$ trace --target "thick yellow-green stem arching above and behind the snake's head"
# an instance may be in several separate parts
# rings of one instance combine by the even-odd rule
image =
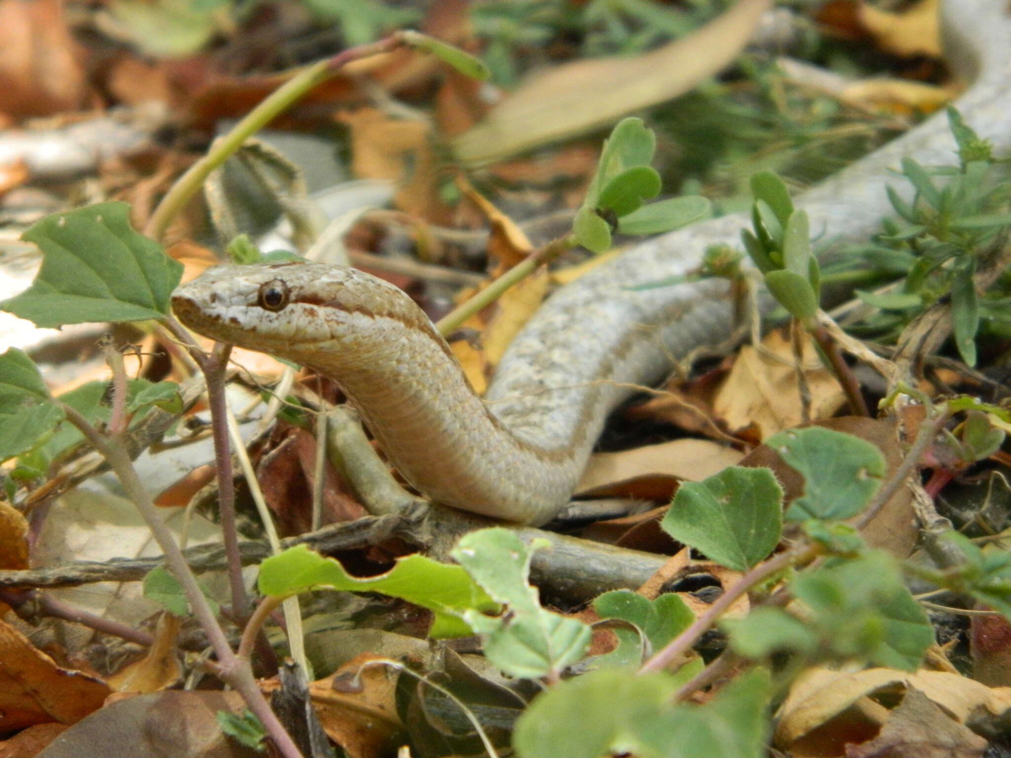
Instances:
[[[376,42],[349,48],[333,58],[318,61],[299,71],[265,97],[227,134],[215,141],[206,156],[179,177],[172,189],[158,204],[151,220],[145,226],[144,233],[153,240],[161,240],[169,223],[185,207],[190,198],[199,191],[210,173],[234,155],[249,137],[283,113],[310,89],[330,79],[339,69],[351,61],[386,53],[400,44],[403,44],[400,34],[391,34]]]

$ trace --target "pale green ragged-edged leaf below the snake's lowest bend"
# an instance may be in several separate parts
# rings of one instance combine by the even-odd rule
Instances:
[[[466,610],[463,619],[485,635],[485,656],[510,676],[557,674],[589,645],[589,627],[544,610],[528,581],[533,551],[545,545],[535,541],[528,547],[510,530],[483,529],[464,535],[450,552],[489,596],[508,605],[500,617]]]

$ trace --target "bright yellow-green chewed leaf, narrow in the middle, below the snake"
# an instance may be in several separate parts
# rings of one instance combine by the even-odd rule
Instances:
[[[397,559],[385,574],[359,578],[348,574],[333,558],[324,558],[304,545],[289,548],[260,564],[260,592],[275,597],[316,587],[333,587],[352,592],[382,592],[400,597],[435,613],[429,636],[462,637],[473,630],[460,621],[467,608],[494,611],[492,600],[460,566],[439,563],[421,555]]]

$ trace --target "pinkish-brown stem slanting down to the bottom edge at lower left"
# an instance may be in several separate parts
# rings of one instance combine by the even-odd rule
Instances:
[[[291,736],[267,703],[263,692],[260,691],[260,687],[257,686],[249,659],[240,658],[232,652],[232,647],[224,636],[224,631],[217,623],[217,619],[214,617],[214,611],[210,607],[207,598],[200,591],[196,576],[190,571],[182,551],[172,537],[172,533],[159,515],[158,507],[152,501],[148,490],[145,489],[144,483],[141,481],[141,477],[137,476],[136,469],[133,468],[133,462],[130,461],[126,451],[121,445],[117,445],[114,440],[100,434],[91,425],[87,418],[71,406],[61,403],[61,407],[67,414],[67,419],[77,427],[95,450],[101,453],[105,460],[108,461],[109,466],[115,472],[116,478],[119,479],[119,483],[122,485],[126,496],[133,502],[137,510],[141,511],[142,517],[148,525],[148,529],[151,530],[152,535],[155,537],[155,542],[158,543],[165,555],[165,561],[169,565],[169,570],[182,585],[183,592],[186,594],[186,600],[189,602],[193,614],[207,635],[207,640],[217,658],[215,670],[218,676],[231,684],[242,695],[246,704],[249,705],[250,710],[257,716],[267,730],[267,733],[274,741],[281,755],[285,758],[302,758],[298,746],[292,741]]]

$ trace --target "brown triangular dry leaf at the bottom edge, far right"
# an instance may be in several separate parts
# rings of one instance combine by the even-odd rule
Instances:
[[[910,687],[881,734],[862,745],[847,745],[846,758],[977,758],[988,746],[923,692]]]

